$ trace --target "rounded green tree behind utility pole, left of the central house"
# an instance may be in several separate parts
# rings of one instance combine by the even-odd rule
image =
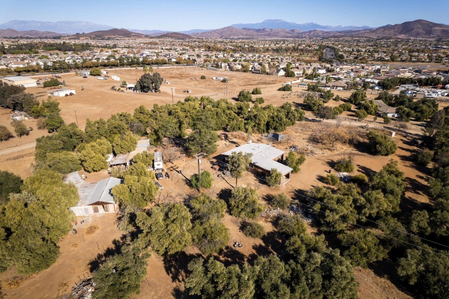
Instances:
[[[207,128],[199,128],[190,133],[185,146],[190,156],[201,152],[209,156],[217,150],[217,141],[218,135],[216,132]]]

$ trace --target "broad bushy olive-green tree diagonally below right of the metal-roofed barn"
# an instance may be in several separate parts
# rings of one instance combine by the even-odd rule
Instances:
[[[158,255],[172,255],[192,244],[191,215],[182,203],[154,206],[150,214],[137,212],[136,224],[141,229],[141,248],[151,246]]]

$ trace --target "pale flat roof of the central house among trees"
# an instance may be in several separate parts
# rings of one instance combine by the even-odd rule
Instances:
[[[275,168],[279,172],[281,172],[282,175],[284,176],[293,170],[292,168],[282,163],[273,161],[273,159],[284,154],[284,151],[277,149],[269,144],[247,143],[244,145],[240,145],[235,149],[230,149],[227,152],[223,153],[222,155],[230,156],[234,152],[237,153],[242,152],[243,154],[247,153],[252,154],[251,164],[254,164],[255,166],[260,167],[266,171],[271,171],[271,169]]]

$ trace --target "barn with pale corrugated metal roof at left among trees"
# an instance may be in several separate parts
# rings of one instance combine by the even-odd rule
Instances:
[[[109,177],[95,183],[85,182],[78,171],[71,172],[66,177],[66,183],[75,184],[78,188],[79,202],[70,210],[76,216],[87,216],[96,213],[115,213],[119,210],[118,204],[111,194],[112,187],[119,185],[122,180]]]

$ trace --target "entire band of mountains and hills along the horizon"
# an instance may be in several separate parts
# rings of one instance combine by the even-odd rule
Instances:
[[[0,28],[4,28],[7,25],[14,25],[21,28],[29,28],[27,31],[18,31],[18,27],[8,27],[6,30],[0,31],[0,37],[53,37],[67,35],[62,33],[56,33],[56,31],[37,31],[34,26],[37,24],[40,28],[49,28],[54,24],[61,23],[62,27],[58,28],[58,32],[68,32],[68,27],[64,24],[67,23],[73,28],[83,29],[81,27],[88,26],[86,28],[92,28],[95,26],[107,26],[97,25],[91,22],[80,22],[78,25],[74,24],[76,21],[61,21],[61,22],[39,22],[39,21],[10,21],[4,24],[0,24]],[[26,23],[28,26],[26,27]],[[50,25],[48,25],[50,24]],[[53,24],[53,25],[52,25]],[[83,25],[84,24],[84,25]],[[368,38],[428,38],[428,39],[449,39],[449,26],[444,24],[438,24],[429,22],[426,20],[415,20],[411,22],[404,22],[402,24],[380,26],[377,28],[370,28],[368,26],[323,26],[316,23],[296,24],[292,22],[286,22],[283,20],[265,20],[261,23],[255,24],[235,24],[236,26],[227,26],[215,30],[202,30],[193,29],[189,31],[170,32],[160,30],[128,30],[118,29],[110,26],[106,30],[76,30],[78,34],[71,35],[73,37],[129,37],[129,38],[145,38],[145,37],[161,37],[161,38],[329,38],[329,37],[368,37]],[[50,26],[50,27],[51,27]],[[244,26],[244,27],[242,27]],[[254,26],[247,27],[247,26]],[[270,26],[262,27],[260,26]],[[279,26],[286,26],[282,28]],[[242,28],[240,28],[242,27]],[[297,27],[297,28],[292,28]],[[321,27],[317,29],[316,27]],[[302,28],[302,29],[299,29]],[[314,29],[309,29],[314,28]],[[330,30],[330,29],[334,30]],[[348,29],[349,28],[349,29]],[[308,29],[308,30],[303,30]],[[344,30],[342,30],[344,29]],[[79,33],[79,32],[87,33]]]

